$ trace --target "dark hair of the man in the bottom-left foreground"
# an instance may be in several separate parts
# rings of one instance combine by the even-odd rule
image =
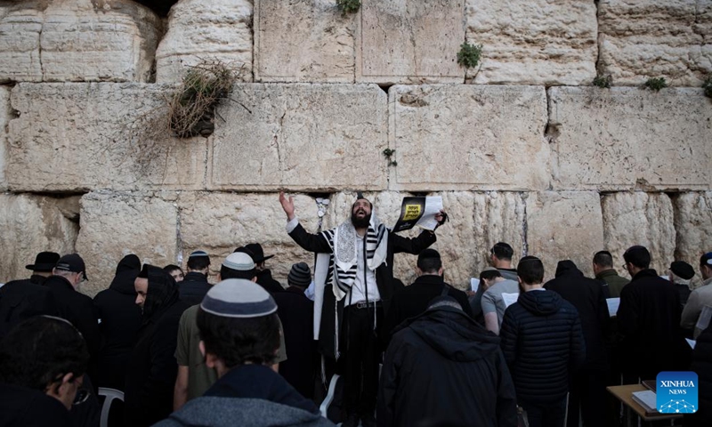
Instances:
[[[0,342],[0,383],[44,391],[62,375],[84,375],[88,363],[84,338],[63,318],[28,318]]]

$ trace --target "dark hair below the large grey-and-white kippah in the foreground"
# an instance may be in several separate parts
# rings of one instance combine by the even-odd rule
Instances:
[[[198,330],[206,352],[232,368],[252,362],[271,365],[279,349],[279,318],[272,313],[259,318],[226,318],[198,308]]]

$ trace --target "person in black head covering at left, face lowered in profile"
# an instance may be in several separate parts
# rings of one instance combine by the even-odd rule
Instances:
[[[126,372],[125,425],[149,426],[173,411],[178,323],[188,304],[166,271],[145,264],[134,282],[142,326]]]

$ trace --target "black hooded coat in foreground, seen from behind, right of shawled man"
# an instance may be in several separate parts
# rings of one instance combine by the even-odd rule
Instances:
[[[499,338],[463,311],[427,310],[402,323],[391,344],[378,392],[379,426],[517,425]]]

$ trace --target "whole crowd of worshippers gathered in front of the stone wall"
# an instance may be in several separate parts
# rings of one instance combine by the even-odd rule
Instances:
[[[0,287],[0,425],[97,426],[113,389],[110,426],[618,426],[607,386],[685,370],[700,405],[684,425],[712,425],[712,326],[699,325],[712,253],[694,290],[690,264],[661,276],[643,246],[594,254],[595,278],[563,260],[545,283],[538,257],[500,242],[464,292],[444,281],[435,230],[393,233],[359,194],[350,218],[311,233],[292,197],[279,202],[311,261],[287,286],[259,244],[213,280],[204,251],[187,272],[129,254],[93,299],[77,290],[91,272],[79,254],[37,254],[30,278]],[[417,255],[409,286],[397,253]]]

